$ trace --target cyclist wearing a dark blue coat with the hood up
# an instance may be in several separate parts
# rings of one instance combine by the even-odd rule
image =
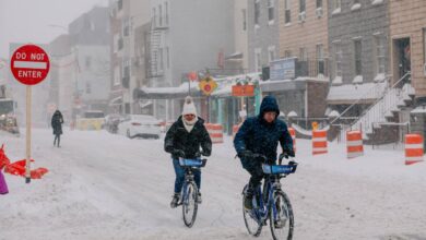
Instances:
[[[259,116],[248,118],[234,139],[234,147],[242,168],[251,176],[245,200],[245,207],[248,209],[252,208],[252,195],[263,179],[262,159],[258,156],[263,155],[271,161],[269,164],[274,164],[279,142],[283,156],[295,156],[292,136],[285,122],[277,119],[279,115],[276,99],[272,96],[264,97]]]

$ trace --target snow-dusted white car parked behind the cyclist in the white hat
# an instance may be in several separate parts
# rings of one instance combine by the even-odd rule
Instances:
[[[118,133],[129,139],[159,139],[161,121],[150,115],[128,115],[120,120]]]

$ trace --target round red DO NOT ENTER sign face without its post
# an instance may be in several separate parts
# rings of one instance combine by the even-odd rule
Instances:
[[[36,45],[17,48],[10,61],[13,76],[25,85],[36,85],[49,73],[50,62],[46,51]]]

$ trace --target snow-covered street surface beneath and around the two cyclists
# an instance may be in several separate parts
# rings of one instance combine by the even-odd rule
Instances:
[[[24,158],[25,137],[0,133],[11,160]],[[203,204],[188,229],[169,208],[175,173],[163,140],[129,140],[105,131],[66,130],[62,147],[35,129],[34,167],[50,171],[25,184],[7,175],[0,196],[0,239],[247,239],[241,189],[248,173],[232,140],[213,146],[203,169]],[[295,212],[294,239],[426,239],[426,163],[404,165],[402,149],[347,160],[345,145],[311,156],[297,140],[298,171],[283,180]],[[259,239],[271,239],[269,227]]]

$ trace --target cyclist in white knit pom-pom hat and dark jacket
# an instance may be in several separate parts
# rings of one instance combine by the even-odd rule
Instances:
[[[201,147],[201,152],[200,152]],[[204,120],[197,116],[197,109],[191,97],[187,97],[184,104],[182,115],[174,122],[166,133],[164,149],[171,154],[175,168],[175,192],[170,207],[175,208],[179,202],[180,191],[185,181],[185,170],[179,165],[179,158],[199,158],[200,155],[210,156],[212,153],[212,140],[204,127]],[[196,184],[201,188],[201,171],[194,172]],[[201,193],[197,197],[201,203]]]

